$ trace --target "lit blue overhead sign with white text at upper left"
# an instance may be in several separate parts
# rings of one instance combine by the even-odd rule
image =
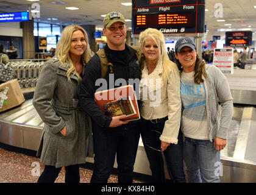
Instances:
[[[0,23],[21,22],[29,20],[29,12],[0,13]]]

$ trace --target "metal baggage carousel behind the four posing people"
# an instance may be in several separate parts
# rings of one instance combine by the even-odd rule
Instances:
[[[234,109],[227,146],[221,151],[221,182],[256,182],[256,69],[235,69],[226,76]],[[31,91],[27,93],[23,104],[0,113],[0,143],[37,151],[44,124],[32,105]],[[93,163],[93,158],[87,161]],[[141,140],[134,171],[151,175]]]

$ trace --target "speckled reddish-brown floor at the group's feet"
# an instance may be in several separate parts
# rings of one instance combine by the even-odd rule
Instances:
[[[35,162],[35,166],[32,163]],[[39,164],[38,164],[39,163]],[[39,166],[40,165],[40,166]],[[40,169],[37,169],[39,168]],[[35,183],[39,175],[43,172],[44,165],[40,163],[40,159],[20,154],[18,152],[10,152],[0,147],[0,183]],[[37,171],[38,170],[38,171]],[[89,183],[93,171],[90,169],[80,168],[80,183]],[[62,168],[56,183],[64,183],[65,169]],[[111,175],[108,183],[116,183],[118,179]],[[138,181],[134,181],[137,183]]]

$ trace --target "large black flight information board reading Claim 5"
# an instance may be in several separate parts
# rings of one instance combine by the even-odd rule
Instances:
[[[204,33],[205,0],[133,0],[133,34],[152,27],[163,34]]]

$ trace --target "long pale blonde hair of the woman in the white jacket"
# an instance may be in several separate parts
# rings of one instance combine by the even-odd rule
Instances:
[[[171,62],[171,60],[169,60],[169,57],[167,55],[167,51],[165,47],[165,38],[163,36],[163,33],[157,29],[148,28],[140,33],[140,38],[139,38],[140,51],[141,51],[140,62],[143,63],[145,60],[142,54],[142,51],[143,51],[145,41],[148,37],[151,37],[155,41],[155,43],[157,43],[157,46],[159,49],[157,64],[161,62],[163,63],[163,71],[162,71],[163,80],[169,79],[168,69],[170,68],[171,68],[171,72],[174,73],[172,75],[177,76],[176,70],[175,70],[176,65],[173,62]]]

